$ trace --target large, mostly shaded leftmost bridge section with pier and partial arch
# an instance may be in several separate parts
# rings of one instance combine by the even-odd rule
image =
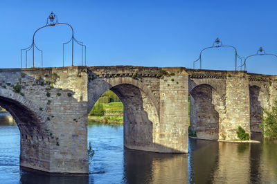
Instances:
[[[0,105],[19,127],[21,167],[51,173],[88,173],[87,75],[83,70],[0,70]]]

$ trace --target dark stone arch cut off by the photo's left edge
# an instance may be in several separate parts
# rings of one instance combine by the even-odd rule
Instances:
[[[10,89],[0,89],[0,106],[15,119],[20,131],[20,166],[33,169],[48,169],[45,163],[50,154],[45,149],[48,131],[45,128],[45,112],[39,111],[33,102]],[[43,161],[44,160],[44,161]]]

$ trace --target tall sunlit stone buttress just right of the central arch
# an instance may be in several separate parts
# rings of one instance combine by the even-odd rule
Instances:
[[[160,123],[155,142],[163,152],[187,153],[188,73],[183,68],[163,69],[175,75],[160,79]]]

